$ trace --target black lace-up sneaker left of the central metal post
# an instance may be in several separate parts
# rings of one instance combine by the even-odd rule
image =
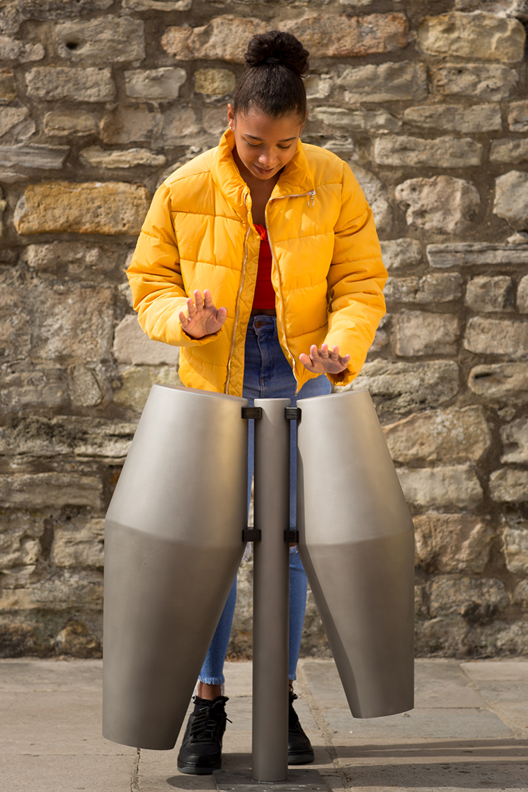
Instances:
[[[189,775],[211,775],[222,767],[222,737],[226,731],[226,696],[213,701],[195,696],[184,741],[178,754],[178,770]]]

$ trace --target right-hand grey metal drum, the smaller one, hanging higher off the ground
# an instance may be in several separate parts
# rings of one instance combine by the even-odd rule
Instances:
[[[352,714],[412,709],[414,530],[367,390],[302,401],[297,519]]]

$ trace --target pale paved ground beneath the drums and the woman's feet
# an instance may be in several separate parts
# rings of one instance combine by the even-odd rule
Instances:
[[[213,790],[173,751],[101,737],[102,662],[0,661],[2,792]],[[352,718],[333,661],[300,662],[296,709],[332,790],[528,789],[528,660],[416,661],[416,708]],[[228,663],[227,770],[251,761],[251,663]],[[182,729],[183,731],[183,729]]]

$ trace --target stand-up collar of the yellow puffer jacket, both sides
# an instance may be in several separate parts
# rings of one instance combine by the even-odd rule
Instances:
[[[230,204],[233,204],[237,213],[244,217],[247,215],[244,196],[248,185],[242,179],[237,164],[234,161],[234,134],[228,129],[220,139],[213,161],[211,162],[211,175],[215,185],[222,192]],[[272,198],[284,198],[289,195],[303,195],[313,190],[313,177],[306,159],[306,153],[301,141],[298,140],[295,153],[287,166],[280,174],[275,185]],[[242,210],[239,212],[239,210]]]

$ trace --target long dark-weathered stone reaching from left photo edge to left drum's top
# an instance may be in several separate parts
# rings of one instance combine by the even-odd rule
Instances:
[[[135,423],[81,416],[30,416],[0,428],[0,455],[126,457]]]

